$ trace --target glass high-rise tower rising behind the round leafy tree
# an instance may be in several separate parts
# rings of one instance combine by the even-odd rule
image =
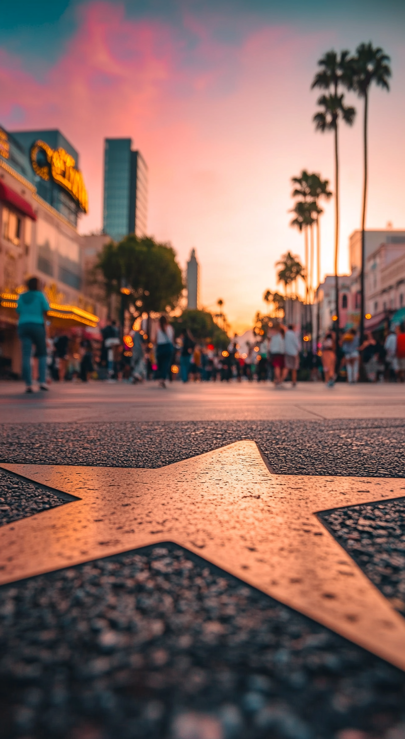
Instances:
[[[131,139],[106,139],[103,232],[115,241],[144,236],[148,211],[148,168]]]

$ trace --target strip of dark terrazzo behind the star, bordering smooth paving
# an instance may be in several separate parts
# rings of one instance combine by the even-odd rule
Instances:
[[[160,467],[253,439],[279,474],[405,477],[401,420],[7,423],[0,460]]]

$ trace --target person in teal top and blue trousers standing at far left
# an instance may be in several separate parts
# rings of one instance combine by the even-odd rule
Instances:
[[[39,290],[37,277],[27,281],[27,293],[21,293],[17,301],[18,336],[22,347],[22,374],[25,381],[25,392],[33,392],[31,355],[35,346],[38,357],[39,387],[47,390],[47,341],[45,320],[50,310],[44,293]]]

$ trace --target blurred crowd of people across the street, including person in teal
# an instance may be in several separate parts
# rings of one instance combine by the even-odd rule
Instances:
[[[342,333],[338,341],[330,331],[316,351],[311,342],[301,346],[292,325],[276,322],[242,349],[236,337],[228,347],[216,348],[208,341],[198,341],[186,328],[175,337],[164,315],[154,327],[153,341],[142,329],[121,336],[112,320],[95,340],[58,328],[51,336],[45,326],[49,304],[39,290],[38,280],[31,278],[27,287],[17,306],[27,392],[33,392],[33,347],[41,390],[47,390],[50,381],[76,378],[83,382],[94,378],[134,384],[155,379],[162,388],[175,379],[183,383],[245,379],[271,381],[277,389],[284,388],[287,380],[296,386],[299,378],[323,380],[331,387],[336,380],[356,383],[360,369],[361,379],[370,382],[405,381],[404,325],[392,326],[383,341],[378,334],[367,333],[362,344],[355,328]]]

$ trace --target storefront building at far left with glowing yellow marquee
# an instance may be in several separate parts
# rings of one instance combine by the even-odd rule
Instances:
[[[43,137],[46,133],[41,132]],[[75,225],[78,215],[87,207],[83,178],[75,170],[74,157],[64,149],[55,151],[41,139],[41,152],[35,151],[38,141],[34,134],[30,132],[33,144],[25,149],[13,134],[0,129],[0,375],[3,376],[21,374],[16,300],[28,277],[37,276],[47,294],[51,304],[51,333],[60,327],[95,332],[100,319],[106,317],[103,304],[89,299],[83,289],[81,236]],[[49,199],[59,209],[38,195],[38,182],[50,180]],[[71,200],[68,210],[67,198]],[[70,213],[70,217],[64,212]]]

